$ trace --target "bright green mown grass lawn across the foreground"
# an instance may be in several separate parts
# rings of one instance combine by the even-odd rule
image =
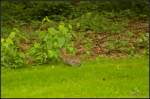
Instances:
[[[2,97],[148,97],[148,57],[2,69]]]

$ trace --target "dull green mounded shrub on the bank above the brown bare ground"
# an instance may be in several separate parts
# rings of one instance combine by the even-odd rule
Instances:
[[[95,32],[120,33],[124,30],[123,22],[112,20],[106,15],[87,13],[72,22],[74,27],[81,31],[92,30]],[[127,23],[125,21],[125,23]]]

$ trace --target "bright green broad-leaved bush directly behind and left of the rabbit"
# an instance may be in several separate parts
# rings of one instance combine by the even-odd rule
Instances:
[[[39,42],[33,44],[28,51],[28,55],[32,56],[35,63],[43,64],[48,61],[58,61],[62,48],[70,53],[75,52],[71,40],[72,26],[60,23],[57,28],[50,27],[46,32],[39,31]]]

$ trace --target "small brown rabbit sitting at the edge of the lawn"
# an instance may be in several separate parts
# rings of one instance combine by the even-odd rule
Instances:
[[[62,51],[60,58],[69,66],[79,67],[81,65],[80,58],[77,56],[69,56],[66,51]]]

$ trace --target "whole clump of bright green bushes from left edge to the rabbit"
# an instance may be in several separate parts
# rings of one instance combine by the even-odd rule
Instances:
[[[45,18],[42,25],[45,24],[45,21],[51,22]],[[75,54],[72,41],[73,31],[70,24],[60,22],[58,26],[49,27],[45,31],[36,31],[34,34],[37,34],[38,41],[25,50],[22,50],[21,47],[28,41],[28,37],[23,34],[14,29],[7,38],[2,38],[2,66],[19,67],[29,63],[44,64],[49,61],[58,61],[62,49],[66,49],[70,54]]]

